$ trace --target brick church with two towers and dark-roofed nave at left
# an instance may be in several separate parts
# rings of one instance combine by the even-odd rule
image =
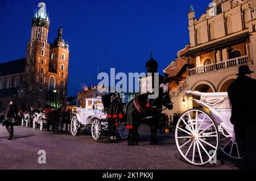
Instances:
[[[53,43],[48,43],[49,17],[46,3],[40,2],[32,18],[26,57],[0,64],[0,112],[6,112],[11,99],[18,108],[66,107],[69,45],[63,28]]]

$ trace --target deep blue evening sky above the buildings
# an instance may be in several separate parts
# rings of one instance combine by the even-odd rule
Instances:
[[[0,0],[0,63],[26,56],[31,19],[40,1]],[[159,72],[189,43],[189,5],[196,18],[210,0],[45,0],[51,24],[48,43],[60,23],[70,48],[68,95],[97,85],[97,67],[109,72],[146,71],[153,50]]]

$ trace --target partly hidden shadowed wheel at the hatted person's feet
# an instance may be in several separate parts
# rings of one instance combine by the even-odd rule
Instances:
[[[238,150],[237,142],[232,137],[224,137],[221,139],[220,143],[220,149],[223,153],[228,155],[231,158],[241,159],[242,155],[240,155],[240,152]]]

